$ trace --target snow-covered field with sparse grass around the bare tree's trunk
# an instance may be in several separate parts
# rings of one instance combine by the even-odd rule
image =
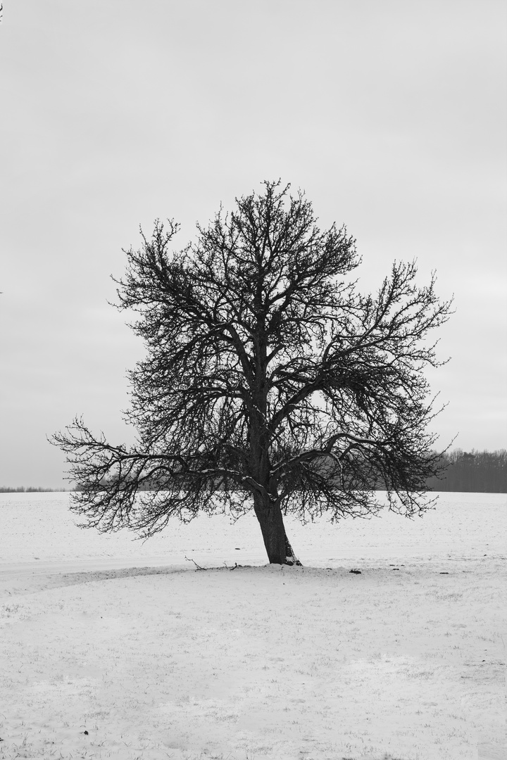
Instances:
[[[507,758],[505,495],[287,521],[304,568],[250,516],[141,544],[21,493],[0,524],[0,758]]]

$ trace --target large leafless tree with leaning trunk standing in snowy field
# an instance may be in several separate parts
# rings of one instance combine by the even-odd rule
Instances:
[[[355,241],[321,232],[280,182],[197,229],[171,252],[178,225],[157,221],[115,280],[147,349],[130,373],[135,445],[80,419],[52,437],[84,527],[149,537],[174,515],[253,507],[269,562],[292,564],[287,513],[366,517],[382,507],[375,488],[401,514],[428,508],[440,460],[423,369],[442,363],[427,336],[450,313],[434,277],[416,287],[415,264],[394,264],[361,295]]]

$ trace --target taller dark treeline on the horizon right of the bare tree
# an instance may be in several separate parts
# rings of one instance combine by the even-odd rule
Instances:
[[[507,493],[507,451],[462,451],[442,454],[445,472],[427,482],[433,491]]]

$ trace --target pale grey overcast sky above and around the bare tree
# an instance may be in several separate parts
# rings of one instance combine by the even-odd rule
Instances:
[[[131,439],[142,346],[109,274],[138,226],[277,179],[345,223],[363,290],[436,269],[434,424],[507,448],[503,0],[4,0],[0,26],[0,485],[62,486],[73,416]]]

